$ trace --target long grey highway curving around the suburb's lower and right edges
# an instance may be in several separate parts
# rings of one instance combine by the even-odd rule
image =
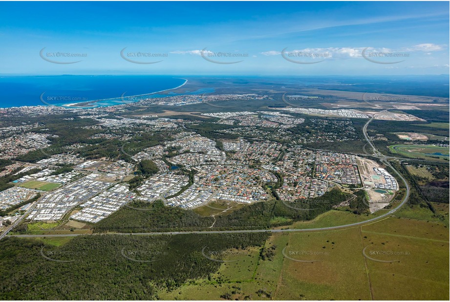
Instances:
[[[382,111],[383,112],[383,111]],[[391,214],[393,214],[394,212],[396,212],[397,210],[399,210],[408,200],[409,198],[409,185],[405,179],[405,177],[403,177],[402,174],[400,174],[397,170],[395,170],[387,161],[386,161],[386,157],[382,155],[379,151],[377,151],[375,149],[375,146],[372,144],[372,142],[370,141],[368,135],[367,135],[367,126],[369,125],[369,123],[375,118],[375,116],[373,116],[370,120],[367,121],[367,123],[365,123],[364,127],[363,127],[363,133],[364,133],[364,138],[365,140],[369,143],[369,145],[372,147],[372,150],[374,151],[375,157],[380,158],[380,160],[389,168],[391,168],[399,177],[400,179],[402,179],[403,183],[406,186],[406,195],[403,198],[402,202],[395,207],[394,209],[390,210],[389,212],[378,216],[378,217],[374,217],[368,220],[364,220],[364,221],[360,221],[360,222],[354,222],[354,223],[349,223],[349,224],[343,224],[343,225],[338,225],[338,226],[331,226],[331,227],[324,227],[324,228],[312,228],[312,229],[283,229],[283,230],[272,230],[272,229],[266,229],[266,230],[232,230],[232,231],[183,231],[183,232],[149,232],[149,233],[112,233],[112,234],[117,234],[117,235],[176,235],[176,234],[218,234],[218,233],[264,233],[264,232],[271,232],[271,233],[281,233],[281,232],[311,232],[311,231],[324,231],[324,230],[335,230],[335,229],[342,229],[342,228],[347,228],[347,227],[353,227],[353,226],[358,226],[358,225],[362,225],[368,222],[372,222],[375,220],[379,220],[382,219],[386,216],[389,216]],[[6,234],[5,234],[6,235]],[[80,236],[80,235],[86,235],[86,234],[54,234],[54,235],[9,235],[7,237],[72,237],[72,236]],[[95,235],[95,234],[91,234],[91,235]],[[101,234],[98,234],[101,235]],[[4,236],[4,235],[3,235]]]

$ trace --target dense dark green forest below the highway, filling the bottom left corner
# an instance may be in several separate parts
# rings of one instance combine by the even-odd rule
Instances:
[[[187,280],[208,278],[217,271],[220,262],[202,256],[203,247],[222,252],[262,246],[267,236],[90,235],[74,237],[59,247],[33,239],[4,238],[0,242],[0,274],[4,277],[0,299],[156,300],[158,289],[175,290]]]

